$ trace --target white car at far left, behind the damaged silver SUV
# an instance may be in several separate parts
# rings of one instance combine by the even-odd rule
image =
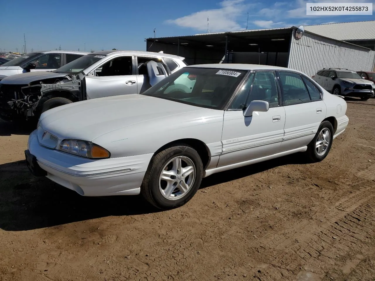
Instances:
[[[51,71],[70,63],[71,61],[90,54],[89,52],[76,51],[42,51],[31,52],[21,55],[0,66],[0,80],[6,76],[15,75],[30,71]],[[33,63],[34,69],[28,69]]]

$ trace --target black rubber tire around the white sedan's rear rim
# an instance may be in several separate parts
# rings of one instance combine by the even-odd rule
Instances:
[[[321,132],[325,132],[325,133],[329,132],[329,136],[327,136],[327,139],[329,140],[329,144],[326,147],[324,147],[323,145],[323,149],[325,148],[325,150],[321,151],[322,154],[319,154],[318,148],[317,148],[317,142],[318,142],[318,138],[321,139],[321,135],[320,135]],[[312,160],[313,162],[320,162],[324,158],[326,158],[326,156],[328,155],[331,149],[332,141],[333,141],[333,126],[331,122],[323,121],[320,124],[318,132],[314,136],[314,139],[312,139],[312,141],[308,144],[306,153],[308,157],[310,158],[310,160]]]

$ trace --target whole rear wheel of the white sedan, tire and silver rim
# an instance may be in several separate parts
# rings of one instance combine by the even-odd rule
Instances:
[[[333,141],[333,126],[329,121],[323,121],[309,143],[307,154],[313,162],[322,161],[328,155]]]

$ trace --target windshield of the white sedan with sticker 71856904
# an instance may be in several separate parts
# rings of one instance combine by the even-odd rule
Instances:
[[[221,109],[246,71],[184,67],[143,94],[204,108]]]

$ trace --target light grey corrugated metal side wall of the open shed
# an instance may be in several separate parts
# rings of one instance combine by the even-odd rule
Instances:
[[[375,51],[305,32],[300,40],[291,38],[288,67],[311,76],[323,67],[372,71]]]

